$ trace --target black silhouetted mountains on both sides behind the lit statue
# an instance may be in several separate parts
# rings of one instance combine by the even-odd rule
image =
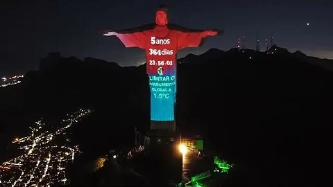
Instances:
[[[238,166],[230,185],[321,184],[332,142],[332,64],[278,46],[189,54],[178,60],[177,126],[200,132],[206,148]],[[21,84],[0,88],[0,136],[89,107],[94,114],[73,137],[85,154],[98,155],[133,143],[135,126],[148,130],[149,96],[145,64],[50,53]]]

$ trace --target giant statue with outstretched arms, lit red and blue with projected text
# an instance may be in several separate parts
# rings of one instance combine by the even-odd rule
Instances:
[[[146,51],[146,73],[151,91],[151,130],[176,130],[177,52],[185,47],[203,44],[216,30],[190,30],[168,24],[167,8],[156,11],[154,24],[113,30],[105,36],[117,36],[126,47],[139,47]]]

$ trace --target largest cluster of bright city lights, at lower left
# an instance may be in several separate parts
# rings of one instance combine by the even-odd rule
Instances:
[[[68,141],[68,129],[91,112],[79,109],[56,128],[36,121],[28,136],[15,138],[12,143],[22,150],[22,154],[0,165],[1,187],[69,184],[66,168],[80,150],[78,145]]]

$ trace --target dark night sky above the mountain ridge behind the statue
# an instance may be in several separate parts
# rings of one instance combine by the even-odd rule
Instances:
[[[37,69],[49,52],[62,56],[95,57],[121,66],[144,62],[144,51],[125,48],[117,37],[103,30],[117,30],[155,21],[155,8],[169,7],[169,22],[187,28],[225,30],[200,48],[178,53],[200,54],[209,48],[228,51],[237,38],[246,36],[246,48],[261,50],[265,39],[293,52],[333,59],[333,1],[230,0],[230,1],[15,1],[0,2],[0,76]]]

